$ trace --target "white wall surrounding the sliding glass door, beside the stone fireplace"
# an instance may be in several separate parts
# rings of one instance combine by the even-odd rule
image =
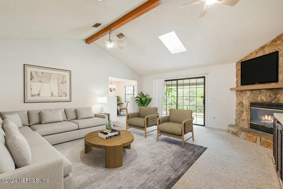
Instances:
[[[236,85],[235,63],[145,75],[141,77],[142,91],[153,97],[153,79],[156,78],[189,78],[206,75],[206,126],[227,129],[228,124],[235,123],[236,93],[230,87]],[[214,97],[214,100],[208,100]],[[154,106],[154,100],[149,106]],[[215,116],[215,120],[213,120]]]

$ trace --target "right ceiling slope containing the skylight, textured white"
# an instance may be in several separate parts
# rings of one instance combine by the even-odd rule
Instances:
[[[283,32],[282,0],[240,0],[234,7],[215,3],[202,18],[204,3],[179,8],[192,1],[167,0],[120,27],[115,32],[125,34],[120,44],[125,48],[106,52],[147,75],[233,63]],[[187,51],[171,54],[159,40],[171,31]]]

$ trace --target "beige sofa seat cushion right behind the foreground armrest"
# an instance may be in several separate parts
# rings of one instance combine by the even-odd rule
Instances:
[[[53,159],[54,157],[59,156],[63,159],[64,176],[72,172],[71,162],[50,144],[42,144],[31,147],[31,156],[32,156],[31,164],[36,164],[38,162],[42,162],[44,160],[50,160]]]

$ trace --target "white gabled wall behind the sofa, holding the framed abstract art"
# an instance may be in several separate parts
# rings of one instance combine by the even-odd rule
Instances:
[[[0,40],[0,57],[0,111],[92,106],[99,112],[96,97],[108,96],[110,76],[140,82],[136,72],[83,40]],[[71,70],[72,102],[24,103],[23,64]]]

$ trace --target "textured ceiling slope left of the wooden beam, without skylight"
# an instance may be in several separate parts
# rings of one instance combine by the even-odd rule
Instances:
[[[86,39],[145,1],[3,0],[0,39]]]

